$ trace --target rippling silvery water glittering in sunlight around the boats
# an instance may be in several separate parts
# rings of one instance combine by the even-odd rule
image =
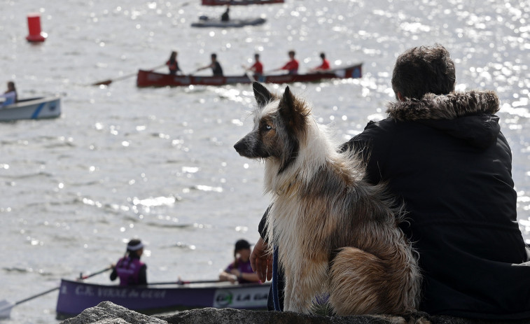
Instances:
[[[290,49],[302,72],[322,50],[335,65],[364,62],[360,80],[291,85],[347,140],[384,117],[396,56],[442,43],[459,90],[498,91],[530,241],[529,1],[286,0],[232,7],[232,17],[267,18],[242,29],[190,28],[199,15],[223,12],[199,0],[120,2],[3,1],[0,89],[15,80],[19,97],[62,94],[63,115],[0,124],[0,300],[103,269],[131,237],[148,244],[151,281],[215,278],[237,239],[258,239],[262,165],[232,148],[251,128],[251,88],[138,89],[128,76],[163,64],[173,49],[188,73],[211,52],[226,74],[243,73],[254,52],[265,71]],[[32,12],[48,33],[39,45],[25,41]],[[109,283],[106,275],[90,280]],[[50,293],[20,304],[4,323],[54,323],[56,300]]]

